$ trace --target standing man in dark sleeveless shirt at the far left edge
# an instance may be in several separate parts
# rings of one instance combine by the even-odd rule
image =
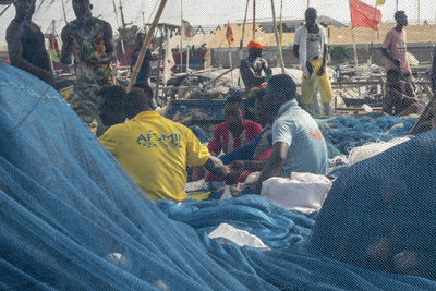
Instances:
[[[7,29],[9,59],[11,64],[52,84],[53,74],[50,68],[44,35],[32,22],[36,0],[15,1],[15,17]]]

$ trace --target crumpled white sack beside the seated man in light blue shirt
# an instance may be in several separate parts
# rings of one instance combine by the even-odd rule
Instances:
[[[274,177],[262,183],[261,195],[288,210],[319,211],[331,181],[322,174],[293,172],[291,178]]]

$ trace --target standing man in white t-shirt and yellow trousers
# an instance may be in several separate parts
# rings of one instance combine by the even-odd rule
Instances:
[[[316,98],[319,89],[324,114],[329,116],[334,93],[326,70],[327,36],[324,27],[316,23],[316,9],[307,8],[305,24],[295,31],[293,53],[303,68],[301,106],[312,116],[322,116]]]

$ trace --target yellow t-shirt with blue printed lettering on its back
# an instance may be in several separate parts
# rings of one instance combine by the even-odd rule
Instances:
[[[155,111],[111,126],[100,141],[150,198],[186,198],[186,167],[210,156],[190,129]]]

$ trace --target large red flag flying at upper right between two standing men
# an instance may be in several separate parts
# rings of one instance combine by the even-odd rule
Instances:
[[[353,28],[368,27],[378,31],[378,24],[382,22],[382,11],[361,0],[350,0],[350,10]]]

